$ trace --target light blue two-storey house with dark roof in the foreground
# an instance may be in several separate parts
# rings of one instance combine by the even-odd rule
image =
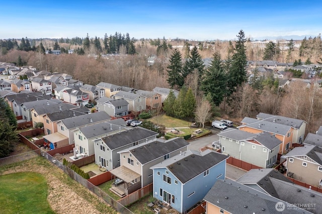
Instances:
[[[184,213],[203,200],[218,179],[225,179],[228,156],[188,150],[151,167],[153,197]]]

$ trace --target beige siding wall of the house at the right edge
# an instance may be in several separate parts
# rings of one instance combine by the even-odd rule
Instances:
[[[293,163],[289,161],[290,158],[293,158]],[[302,166],[303,162],[307,163],[306,167]],[[312,186],[318,186],[320,179],[322,179],[322,172],[317,170],[318,166],[322,167],[321,165],[309,162],[307,160],[288,157],[286,168],[287,173],[294,173],[294,179],[310,184]]]

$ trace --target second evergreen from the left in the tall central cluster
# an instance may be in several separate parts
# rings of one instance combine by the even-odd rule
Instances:
[[[183,77],[186,78],[189,74],[193,72],[194,69],[198,70],[199,80],[203,75],[205,65],[202,57],[199,54],[198,48],[196,46],[190,52],[189,58],[186,60],[183,67]]]

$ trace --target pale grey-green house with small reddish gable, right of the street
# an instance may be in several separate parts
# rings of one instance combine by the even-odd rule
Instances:
[[[249,133],[238,129],[220,132],[221,152],[247,163],[270,168],[276,161],[282,141],[270,133]]]

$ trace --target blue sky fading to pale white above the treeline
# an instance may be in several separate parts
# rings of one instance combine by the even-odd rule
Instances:
[[[119,32],[140,38],[253,39],[322,32],[322,1],[4,1],[0,39],[90,38]]]

